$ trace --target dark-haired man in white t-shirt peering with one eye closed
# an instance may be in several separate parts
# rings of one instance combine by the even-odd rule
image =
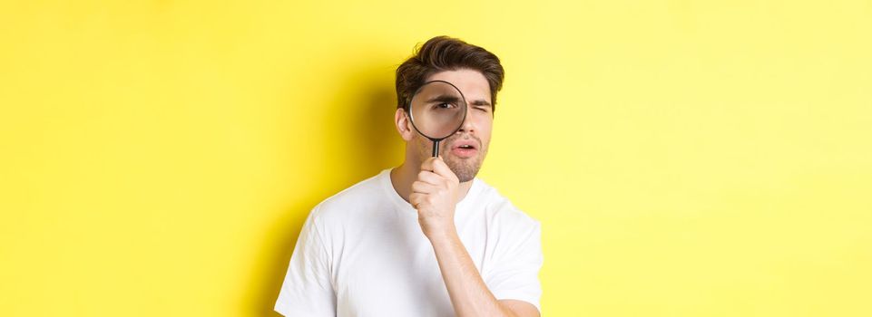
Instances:
[[[406,160],[309,214],[276,311],[286,316],[539,316],[540,226],[475,178],[487,153],[503,66],[440,36],[397,68],[397,131]],[[425,82],[464,95],[463,126],[442,141],[407,113]]]

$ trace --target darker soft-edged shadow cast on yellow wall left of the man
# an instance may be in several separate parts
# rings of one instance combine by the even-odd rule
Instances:
[[[392,86],[393,78],[388,75],[392,76],[392,73],[386,72],[384,67],[353,72],[338,84],[338,93],[332,100],[312,105],[328,111],[324,122],[319,122],[321,124],[318,127],[348,128],[340,133],[335,130],[320,131],[322,135],[333,136],[329,142],[324,142],[325,148],[320,149],[330,154],[330,159],[322,162],[321,170],[329,168],[346,172],[325,173],[341,176],[330,179],[325,188],[316,190],[317,194],[295,197],[290,207],[269,227],[266,239],[260,245],[260,261],[251,268],[253,274],[244,305],[247,314],[278,315],[273,312],[273,305],[288,269],[297,237],[312,207],[402,159],[398,155],[402,153],[403,143],[398,141],[400,139],[392,124],[397,99]],[[346,93],[348,91],[353,92]],[[313,134],[317,133],[313,131]]]

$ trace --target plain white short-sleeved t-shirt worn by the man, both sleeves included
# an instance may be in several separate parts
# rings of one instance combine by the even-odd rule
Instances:
[[[539,222],[479,178],[455,208],[457,234],[496,299],[539,308]],[[285,316],[453,316],[433,246],[390,170],[324,200],[290,258]]]

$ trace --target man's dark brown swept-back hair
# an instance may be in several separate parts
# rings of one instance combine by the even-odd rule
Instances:
[[[397,108],[407,109],[412,94],[436,72],[470,69],[485,75],[496,110],[496,92],[503,88],[505,71],[494,53],[448,36],[436,36],[416,48],[397,67]]]

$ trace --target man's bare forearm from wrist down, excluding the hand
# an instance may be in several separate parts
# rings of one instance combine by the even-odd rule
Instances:
[[[500,304],[487,289],[456,230],[432,236],[430,243],[436,252],[442,279],[458,317],[517,316]]]

